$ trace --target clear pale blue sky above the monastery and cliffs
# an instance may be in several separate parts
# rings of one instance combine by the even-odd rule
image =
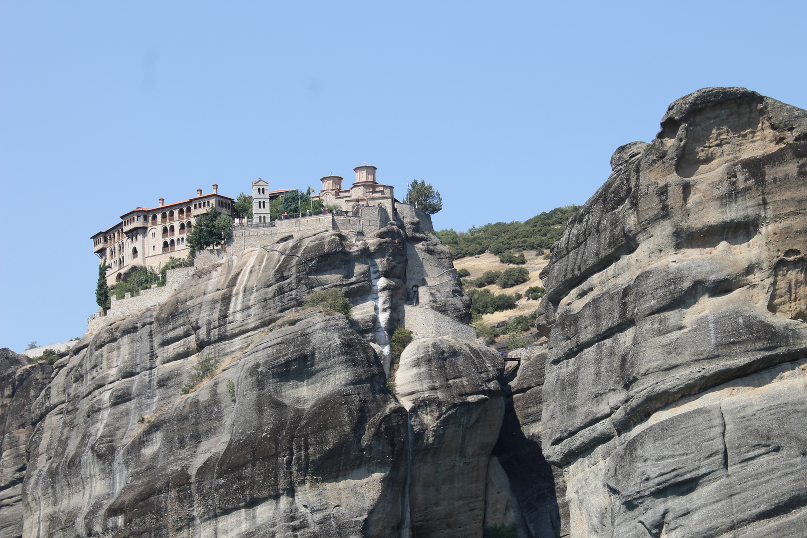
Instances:
[[[805,2],[0,2],[0,347],[81,336],[90,236],[353,167],[436,227],[581,204],[667,105],[805,95]]]

